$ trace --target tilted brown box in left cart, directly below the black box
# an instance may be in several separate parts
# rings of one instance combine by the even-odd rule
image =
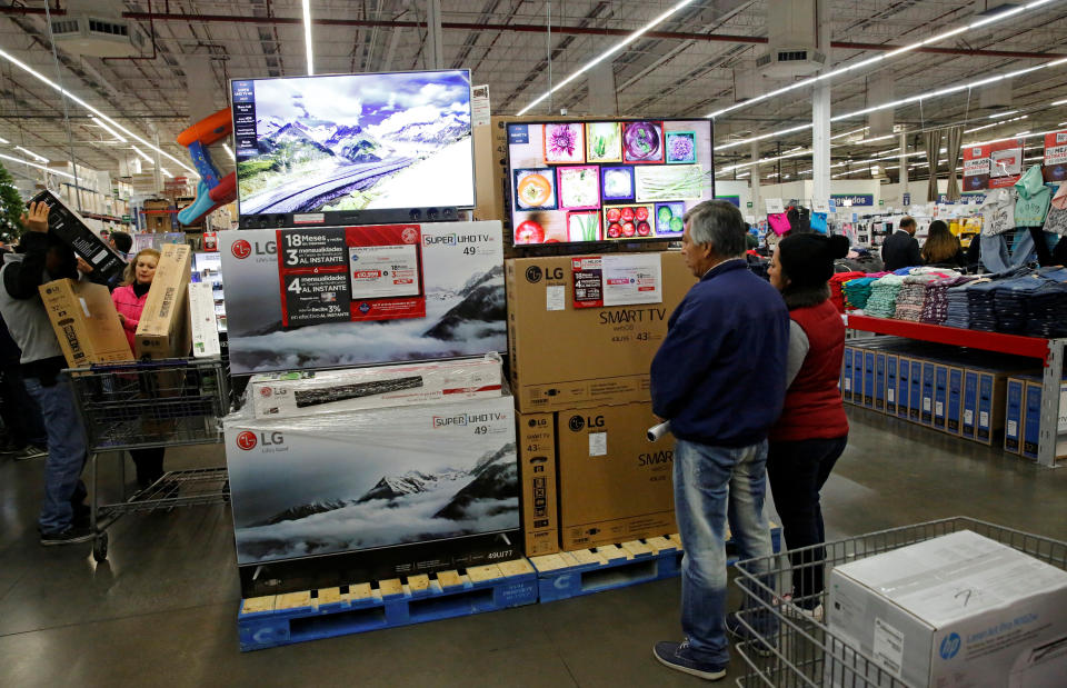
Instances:
[[[89,280],[60,279],[38,290],[68,366],[133,360],[107,287]]]

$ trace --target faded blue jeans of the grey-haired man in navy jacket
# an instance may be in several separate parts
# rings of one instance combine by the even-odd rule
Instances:
[[[774,555],[764,512],[766,467],[766,440],[741,448],[676,441],[675,516],[685,549],[681,629],[698,661],[725,665],[729,660],[725,627],[727,519],[742,559]]]

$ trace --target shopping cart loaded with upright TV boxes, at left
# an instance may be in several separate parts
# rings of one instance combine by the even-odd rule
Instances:
[[[92,556],[108,558],[107,529],[121,516],[229,501],[226,467],[172,470],[147,488],[127,493],[129,449],[210,445],[222,441],[219,419],[229,410],[225,363],[217,359],[169,359],[97,365],[67,371],[86,431],[92,485]],[[122,500],[101,503],[98,457],[114,452],[121,466]]]

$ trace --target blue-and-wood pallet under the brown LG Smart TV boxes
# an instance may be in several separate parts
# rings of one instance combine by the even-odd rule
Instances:
[[[781,528],[770,530],[775,551],[781,550]],[[731,540],[727,545],[731,545]],[[730,558],[729,564],[737,561]],[[592,549],[532,557],[538,598],[555,602],[571,597],[616,590],[681,572],[681,541],[677,535],[632,540]]]

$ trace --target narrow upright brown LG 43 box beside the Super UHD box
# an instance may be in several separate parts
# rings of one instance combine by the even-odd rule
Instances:
[[[559,551],[556,413],[519,413],[519,481],[527,557]]]

